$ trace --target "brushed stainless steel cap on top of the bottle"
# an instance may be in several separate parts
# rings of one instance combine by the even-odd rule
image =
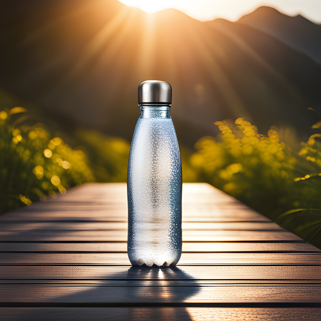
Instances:
[[[172,87],[168,82],[147,80],[138,86],[138,104],[162,104],[172,103]]]

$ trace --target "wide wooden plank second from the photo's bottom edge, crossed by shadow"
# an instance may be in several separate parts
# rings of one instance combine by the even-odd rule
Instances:
[[[117,281],[115,281],[117,282]],[[2,284],[1,302],[321,302],[321,285],[92,286]]]

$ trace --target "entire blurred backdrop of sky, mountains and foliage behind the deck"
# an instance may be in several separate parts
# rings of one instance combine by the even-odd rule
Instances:
[[[321,247],[321,4],[262,4],[1,0],[1,213],[125,182],[153,79],[173,88],[183,180]]]

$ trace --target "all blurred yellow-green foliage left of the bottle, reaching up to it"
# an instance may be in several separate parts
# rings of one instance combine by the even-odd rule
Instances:
[[[85,182],[126,182],[126,140],[86,129],[66,131],[61,124],[68,119],[30,104],[29,111],[15,107],[19,104],[0,89],[0,213]]]

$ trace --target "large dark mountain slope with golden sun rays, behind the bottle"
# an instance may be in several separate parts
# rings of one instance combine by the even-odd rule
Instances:
[[[260,25],[258,13],[269,17],[270,8],[239,22],[200,22],[176,9],[147,14],[117,0],[0,4],[1,87],[79,126],[130,140],[145,80],[172,85],[171,116],[188,146],[216,135],[213,123],[225,118],[244,117],[263,134],[290,126],[301,139],[316,122],[307,108],[320,108],[321,66],[307,46],[293,44],[304,35],[291,42],[282,35],[292,27],[277,36]],[[289,17],[276,15],[287,26]],[[291,23],[300,29],[306,21]]]

